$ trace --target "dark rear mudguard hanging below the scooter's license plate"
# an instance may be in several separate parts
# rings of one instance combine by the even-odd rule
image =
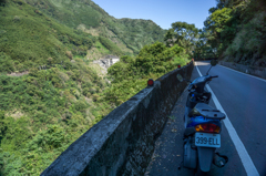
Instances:
[[[209,172],[215,149],[216,148],[213,147],[197,147],[198,166],[201,170]]]

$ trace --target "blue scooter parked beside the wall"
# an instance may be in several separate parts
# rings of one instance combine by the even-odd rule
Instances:
[[[211,61],[209,70],[217,62]],[[225,114],[208,105],[211,92],[205,89],[213,79],[207,71],[206,75],[195,79],[193,82],[184,80],[180,74],[177,79],[190,82],[188,96],[184,114],[184,157],[183,166],[195,170],[196,176],[206,175],[212,163],[217,167],[224,167],[228,157],[216,153],[221,147],[222,121]]]

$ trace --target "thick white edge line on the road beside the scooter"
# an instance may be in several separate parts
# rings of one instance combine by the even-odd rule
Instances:
[[[202,73],[200,72],[197,64],[195,62],[196,69],[198,74],[202,76]],[[207,90],[212,93],[213,96],[213,101],[214,104],[216,105],[216,107],[222,112],[225,113],[224,108],[222,107],[222,105],[219,104],[217,97],[215,96],[214,92],[212,91],[212,89],[209,87],[209,85],[206,85]],[[238,137],[234,126],[232,125],[228,115],[225,113],[226,118],[224,120],[224,124],[225,127],[227,128],[229,136],[236,147],[236,151],[241,157],[242,164],[247,173],[248,176],[259,176],[255,165],[253,164],[253,161],[250,158],[250,156],[248,155],[244,144],[242,143],[241,138]]]

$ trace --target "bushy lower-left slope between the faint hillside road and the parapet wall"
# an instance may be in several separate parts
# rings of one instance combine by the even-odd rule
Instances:
[[[106,83],[80,59],[21,77],[2,74],[0,84],[3,175],[42,172],[104,112],[92,100]]]

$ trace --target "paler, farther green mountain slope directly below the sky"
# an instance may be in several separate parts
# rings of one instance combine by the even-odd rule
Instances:
[[[139,53],[145,44],[163,41],[164,30],[151,20],[115,19],[91,0],[25,0],[43,13],[70,28],[83,28],[110,39],[124,53]]]

